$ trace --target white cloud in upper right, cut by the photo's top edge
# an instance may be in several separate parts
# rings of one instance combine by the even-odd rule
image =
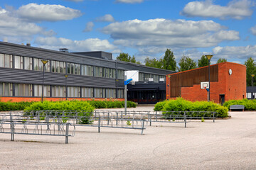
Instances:
[[[213,17],[242,19],[252,15],[250,9],[252,2],[249,0],[230,1],[227,6],[213,4],[212,0],[192,1],[186,4],[181,15],[188,17]]]

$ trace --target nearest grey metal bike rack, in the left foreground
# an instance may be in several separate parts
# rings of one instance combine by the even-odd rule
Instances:
[[[11,134],[11,141],[14,135],[49,135],[63,136],[68,144],[68,137],[75,135],[75,126],[70,123],[57,122],[54,118],[45,118],[42,115],[37,117],[24,116],[22,112],[0,113],[0,133]]]

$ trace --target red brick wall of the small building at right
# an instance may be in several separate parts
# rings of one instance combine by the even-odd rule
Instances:
[[[246,98],[246,67],[233,62],[218,64],[218,81],[210,82],[210,101],[220,103],[220,94],[225,95],[225,101]],[[228,74],[229,69],[233,73]],[[169,81],[166,77],[166,98],[169,96]],[[181,87],[181,97],[189,101],[207,101],[206,89],[201,89],[200,84],[191,87]]]

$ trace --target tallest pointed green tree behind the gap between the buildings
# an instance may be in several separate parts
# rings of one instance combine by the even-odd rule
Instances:
[[[164,55],[164,59],[160,59],[160,62],[163,64],[163,69],[176,70],[176,61],[174,57],[174,52],[170,49],[167,49]]]

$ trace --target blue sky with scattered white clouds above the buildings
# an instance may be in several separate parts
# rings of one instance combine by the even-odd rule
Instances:
[[[213,54],[256,60],[256,2],[250,0],[1,0],[0,40],[70,52],[120,52],[180,60]]]

